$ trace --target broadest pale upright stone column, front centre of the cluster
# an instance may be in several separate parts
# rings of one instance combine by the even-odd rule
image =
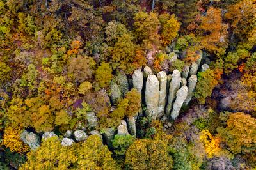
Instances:
[[[148,75],[145,89],[147,116],[156,120],[159,102],[159,81],[156,75]]]

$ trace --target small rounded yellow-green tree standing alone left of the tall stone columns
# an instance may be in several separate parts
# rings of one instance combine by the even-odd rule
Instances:
[[[113,79],[112,68],[109,63],[102,63],[95,72],[95,80],[99,83],[100,88],[106,88],[111,79]]]

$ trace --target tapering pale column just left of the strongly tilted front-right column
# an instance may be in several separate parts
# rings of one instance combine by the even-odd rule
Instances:
[[[166,117],[170,116],[172,110],[172,103],[175,98],[175,95],[180,88],[181,76],[179,70],[174,70],[172,74],[172,81],[170,82],[169,95],[168,95],[168,104],[166,107]]]

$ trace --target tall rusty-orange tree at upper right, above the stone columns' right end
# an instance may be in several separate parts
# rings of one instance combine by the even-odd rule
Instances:
[[[228,45],[228,26],[222,21],[221,10],[210,7],[206,15],[202,17],[200,29],[204,32],[201,42],[202,47],[220,56],[225,54]]]

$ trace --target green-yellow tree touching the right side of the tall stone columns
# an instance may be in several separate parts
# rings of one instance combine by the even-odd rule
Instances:
[[[198,73],[198,82],[196,84],[196,89],[194,96],[198,99],[201,104],[205,103],[205,98],[210,97],[212,90],[218,84],[218,79],[214,70],[207,69],[204,72]]]

